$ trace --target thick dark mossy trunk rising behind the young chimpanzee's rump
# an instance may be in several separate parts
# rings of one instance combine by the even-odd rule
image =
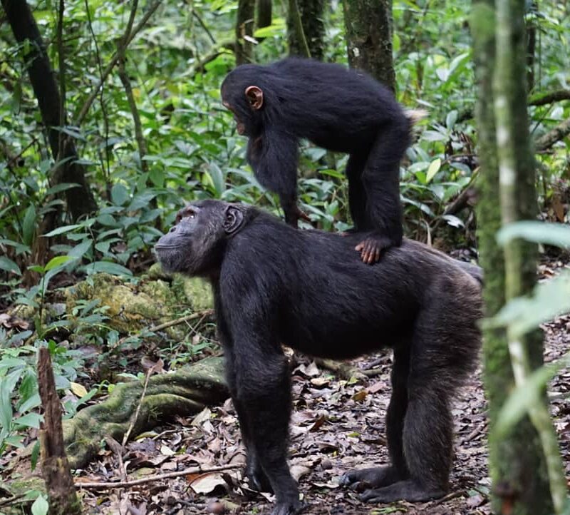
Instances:
[[[343,0],[351,68],[367,71],[395,91],[392,0]]]

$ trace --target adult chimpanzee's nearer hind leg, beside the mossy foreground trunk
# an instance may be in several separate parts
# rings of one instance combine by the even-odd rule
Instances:
[[[437,305],[425,310],[415,324],[403,424],[408,475],[388,486],[364,491],[363,501],[420,502],[447,493],[453,437],[450,395],[463,379],[464,370],[463,364],[456,362],[460,356],[455,354],[452,335],[440,327],[444,320],[438,316],[439,311]],[[434,326],[431,331],[427,323]],[[453,337],[457,340],[459,335]]]

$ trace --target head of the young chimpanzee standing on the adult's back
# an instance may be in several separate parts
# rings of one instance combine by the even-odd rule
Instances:
[[[255,136],[260,131],[265,106],[262,86],[265,73],[264,66],[242,64],[222,82],[222,104],[234,113],[239,134]]]

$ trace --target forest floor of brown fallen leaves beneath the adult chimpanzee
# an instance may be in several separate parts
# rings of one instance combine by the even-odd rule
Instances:
[[[542,267],[543,277],[551,268]],[[570,350],[570,315],[544,325],[545,360]],[[425,504],[370,505],[339,488],[338,477],[354,468],[385,464],[384,417],[390,399],[390,353],[353,362],[370,377],[351,382],[300,357],[293,374],[294,415],[291,421],[291,471],[309,504],[307,514],[480,514],[491,513],[487,469],[487,405],[481,372],[472,377],[453,405],[455,461],[450,494]],[[373,370],[373,372],[370,372]],[[551,411],[561,451],[570,474],[570,370],[549,386]],[[230,401],[204,410],[192,420],[155,429],[128,444],[123,462],[130,479],[191,466],[239,464],[244,461],[236,414]],[[98,462],[80,471],[78,481],[108,481],[119,475],[113,452],[100,452]],[[83,502],[98,514],[269,514],[271,496],[247,489],[241,469],[182,476],[109,493],[85,492]]]

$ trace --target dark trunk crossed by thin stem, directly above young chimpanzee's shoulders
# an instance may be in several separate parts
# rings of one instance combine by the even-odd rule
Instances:
[[[309,48],[309,55],[305,49],[302,35],[296,26],[296,13],[291,5],[296,3],[296,7],[301,16],[301,26],[306,40],[306,46]],[[287,13],[287,41],[289,43],[289,54],[291,56],[312,57],[323,60],[324,56],[324,0],[296,0],[289,2],[289,12]]]

